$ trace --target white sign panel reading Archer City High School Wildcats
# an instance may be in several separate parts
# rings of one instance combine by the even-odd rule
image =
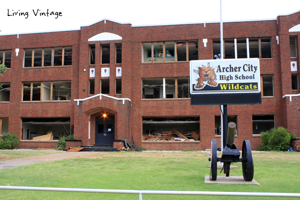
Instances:
[[[260,92],[258,58],[192,60],[189,67],[191,94]]]

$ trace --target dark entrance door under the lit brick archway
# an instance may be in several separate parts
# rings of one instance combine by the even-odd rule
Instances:
[[[109,115],[96,117],[95,134],[96,144],[113,144],[114,117]]]

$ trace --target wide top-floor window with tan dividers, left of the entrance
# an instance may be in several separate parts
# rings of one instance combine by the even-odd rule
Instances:
[[[72,46],[24,50],[24,67],[72,64]],[[62,56],[63,55],[63,56]]]

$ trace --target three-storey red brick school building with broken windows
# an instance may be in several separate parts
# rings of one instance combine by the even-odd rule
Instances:
[[[259,132],[271,127],[299,137],[300,11],[224,22],[223,37],[225,59],[260,62],[261,104],[228,105],[237,147],[243,139],[257,147]],[[1,35],[7,70],[0,132],[16,133],[20,148],[55,148],[72,125],[80,145],[128,139],[149,150],[202,150],[217,138],[219,147],[219,106],[190,105],[189,94],[189,61],[219,51],[216,22],[132,26],[103,19],[77,30]],[[170,129],[199,131],[199,138],[149,140]],[[32,140],[49,133],[54,140]]]

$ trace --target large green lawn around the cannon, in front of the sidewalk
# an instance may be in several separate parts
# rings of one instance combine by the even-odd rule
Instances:
[[[300,192],[300,153],[253,152],[253,159],[254,179],[260,185],[204,184],[204,176],[209,175],[207,167],[209,161],[207,153],[201,152],[109,152],[84,158],[5,168],[0,170],[0,185],[138,190]],[[241,163],[234,163],[234,165],[237,165],[238,168],[231,170],[230,175],[242,175]],[[138,195],[0,190],[0,199],[111,200],[138,199]],[[143,199],[274,198],[143,194]],[[282,197],[275,199],[282,199]]]

